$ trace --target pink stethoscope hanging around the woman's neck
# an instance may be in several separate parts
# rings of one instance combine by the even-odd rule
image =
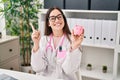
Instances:
[[[61,38],[61,42],[60,42],[59,48],[58,48],[59,51],[62,50],[62,45],[63,45],[64,38],[65,38],[65,35],[63,35],[62,38]],[[53,47],[51,45],[52,40],[53,40],[53,34],[50,35],[50,40],[48,41],[47,46],[46,46],[46,52],[48,51],[48,49],[51,49],[51,52],[53,52]]]

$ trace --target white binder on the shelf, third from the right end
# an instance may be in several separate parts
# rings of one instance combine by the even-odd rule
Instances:
[[[95,44],[101,44],[102,37],[102,20],[95,20]]]

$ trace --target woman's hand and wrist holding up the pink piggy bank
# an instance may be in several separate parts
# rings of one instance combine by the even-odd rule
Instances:
[[[72,30],[72,33],[71,33],[71,40],[72,40],[71,48],[72,48],[72,50],[81,46],[83,38],[84,38],[84,30],[83,30],[83,33],[80,35],[74,35],[74,30]]]

